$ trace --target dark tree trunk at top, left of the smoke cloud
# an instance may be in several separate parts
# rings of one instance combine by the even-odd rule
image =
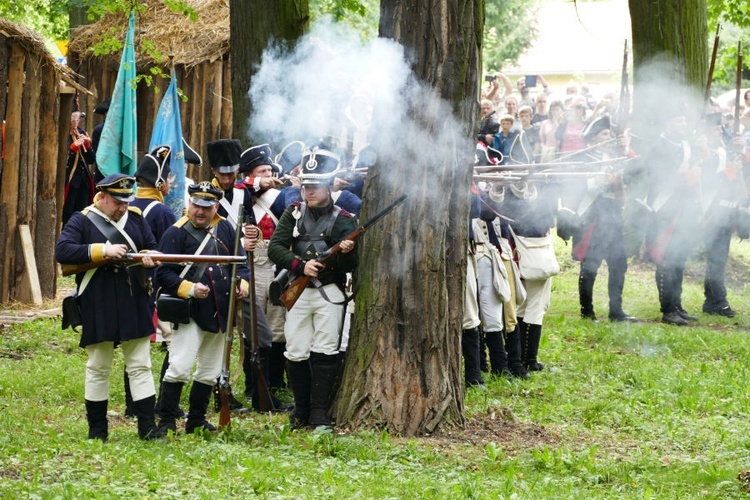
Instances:
[[[250,81],[269,41],[296,41],[307,29],[308,0],[230,0],[229,37],[232,65],[232,137],[258,144],[268,138],[249,137],[252,103]],[[249,144],[246,144],[249,146]]]

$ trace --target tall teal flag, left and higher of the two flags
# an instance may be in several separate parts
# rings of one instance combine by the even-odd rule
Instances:
[[[107,119],[102,128],[102,137],[96,150],[96,164],[105,177],[120,173],[135,175],[135,170],[138,168],[134,36],[135,16],[131,12],[115,90],[112,93]]]

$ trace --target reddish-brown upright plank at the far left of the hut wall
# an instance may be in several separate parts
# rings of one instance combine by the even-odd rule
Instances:
[[[5,164],[0,182],[0,303],[7,302],[15,290],[13,269],[16,261],[18,221],[18,175],[21,157],[23,73],[26,54],[20,45],[11,45],[8,59],[8,97],[5,115]]]

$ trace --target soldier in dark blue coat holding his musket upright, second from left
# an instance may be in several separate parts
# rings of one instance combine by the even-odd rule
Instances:
[[[164,233],[159,249],[164,253],[231,255],[237,230],[217,213],[222,192],[201,182],[190,186],[188,193],[188,215]],[[240,251],[244,255],[244,249]],[[249,288],[247,265],[239,265],[237,274],[242,278],[237,299],[242,300]],[[206,421],[206,411],[221,375],[224,336],[220,333],[225,332],[229,314],[234,314],[229,311],[231,267],[194,264],[184,270],[165,264],[157,270],[156,278],[165,293],[192,301],[188,323],[172,332],[169,366],[161,387],[159,428],[176,431],[182,387],[195,365],[185,432],[190,434],[198,428],[214,431],[216,428]]]

